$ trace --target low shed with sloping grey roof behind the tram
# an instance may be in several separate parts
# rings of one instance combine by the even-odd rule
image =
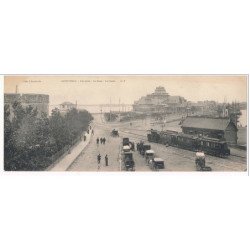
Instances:
[[[228,118],[188,116],[182,123],[185,134],[203,135],[225,139],[229,144],[237,144],[237,127]]]

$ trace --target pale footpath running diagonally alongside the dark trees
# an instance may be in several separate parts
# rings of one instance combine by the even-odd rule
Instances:
[[[89,130],[89,134],[85,133],[86,141],[82,140],[73,148],[71,148],[70,153],[66,154],[57,163],[52,164],[47,170],[48,171],[66,171],[70,165],[75,161],[75,159],[81,154],[85,147],[89,144],[92,137],[92,129]]]

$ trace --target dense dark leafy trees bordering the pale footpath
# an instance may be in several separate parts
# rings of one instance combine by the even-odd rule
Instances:
[[[44,170],[60,152],[70,148],[93,119],[86,110],[72,109],[62,115],[54,109],[50,117],[18,102],[4,107],[4,168]]]

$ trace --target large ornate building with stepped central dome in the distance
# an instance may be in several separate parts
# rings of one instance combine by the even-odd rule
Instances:
[[[185,112],[187,101],[181,96],[170,96],[164,87],[157,87],[155,92],[141,97],[133,104],[133,111],[141,113],[177,113]]]

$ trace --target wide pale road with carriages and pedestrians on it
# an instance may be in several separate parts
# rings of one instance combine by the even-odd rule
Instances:
[[[84,149],[82,154],[75,160],[69,170],[71,171],[123,171],[123,165],[120,163],[121,141],[123,137],[129,137],[133,142],[140,140],[147,141],[147,129],[152,126],[152,120],[138,120],[130,122],[111,122],[104,121],[102,115],[94,115],[94,136],[90,144]],[[169,122],[164,129],[176,130],[179,128],[178,121]],[[110,132],[113,128],[119,130],[120,137],[111,137]],[[159,128],[158,128],[159,129]],[[96,144],[96,138],[105,137],[106,144]],[[156,156],[165,161],[166,168],[161,171],[195,171],[195,153],[175,147],[165,147],[157,143],[150,143]],[[98,168],[97,155],[101,154],[101,166]],[[108,155],[109,166],[105,166],[104,157]],[[134,152],[135,170],[151,171],[146,165],[145,159]],[[230,156],[227,159],[214,156],[206,156],[206,165],[213,171],[244,171],[247,168],[246,158]]]

